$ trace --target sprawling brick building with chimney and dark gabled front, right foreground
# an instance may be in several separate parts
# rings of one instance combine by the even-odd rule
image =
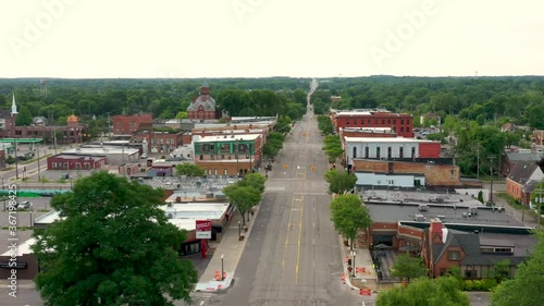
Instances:
[[[358,245],[370,246],[376,255],[374,246],[382,244],[391,248],[384,252],[392,253],[387,258],[396,256],[398,250],[421,256],[429,277],[441,277],[452,267],[459,267],[465,279],[493,278],[494,267],[505,259],[514,276],[517,265],[527,259],[536,243],[532,229],[504,209],[463,203],[430,205],[369,200],[366,207],[373,223],[359,234]],[[379,278],[388,273],[394,258],[387,261],[381,261]]]

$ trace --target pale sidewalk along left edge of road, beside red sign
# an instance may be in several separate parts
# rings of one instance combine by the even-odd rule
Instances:
[[[234,279],[234,271],[238,266],[238,261],[244,252],[246,242],[251,233],[251,228],[254,227],[257,213],[259,212],[259,205],[255,206],[255,215],[250,218],[250,221],[246,220],[246,225],[248,231],[242,230],[242,234],[245,235],[243,241],[238,241],[238,221],[242,222],[242,216],[236,212],[231,219],[231,223],[223,235],[220,243],[217,244],[215,250],[213,252],[212,258],[206,268],[206,271],[200,277],[200,280],[196,284],[195,291],[200,292],[213,292],[218,290],[224,290],[231,286]],[[221,259],[223,256],[223,259]],[[225,272],[225,279],[217,281],[215,272]]]

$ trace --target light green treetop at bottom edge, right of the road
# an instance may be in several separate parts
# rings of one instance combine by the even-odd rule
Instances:
[[[459,290],[454,277],[419,278],[408,286],[380,293],[376,306],[469,306],[470,299]]]

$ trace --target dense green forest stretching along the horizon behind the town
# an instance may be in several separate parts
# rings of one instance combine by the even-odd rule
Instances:
[[[218,107],[230,115],[280,115],[298,120],[306,112],[311,78],[116,78],[0,79],[0,108],[9,110],[15,94],[17,124],[32,124],[45,117],[48,124],[65,124],[71,114],[88,123],[92,135],[103,131],[108,117],[152,113],[156,119],[183,119],[203,83]],[[311,96],[317,114],[332,109],[384,108],[413,114],[434,112],[442,118],[441,130],[429,139],[453,144],[461,172],[473,175],[489,169],[489,157],[499,159],[505,146],[529,147],[530,130],[544,128],[544,77],[333,77],[320,78]],[[341,96],[331,102],[331,96]],[[95,120],[92,120],[95,118]],[[507,122],[527,126],[517,133],[500,133]],[[434,122],[433,122],[434,124]],[[491,174],[491,173],[487,173]]]

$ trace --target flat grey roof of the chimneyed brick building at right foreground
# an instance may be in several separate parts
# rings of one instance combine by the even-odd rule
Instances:
[[[438,218],[443,224],[469,224],[469,225],[495,225],[495,227],[524,227],[522,222],[514,219],[506,211],[497,208],[478,207],[478,215],[463,217],[463,212],[469,211],[467,205],[433,205],[425,204],[426,211],[420,211],[419,205],[400,203],[366,203],[373,222],[398,222],[416,221],[415,216],[423,215],[425,218],[421,222],[430,222],[433,218]],[[475,207],[475,206],[471,206]]]

